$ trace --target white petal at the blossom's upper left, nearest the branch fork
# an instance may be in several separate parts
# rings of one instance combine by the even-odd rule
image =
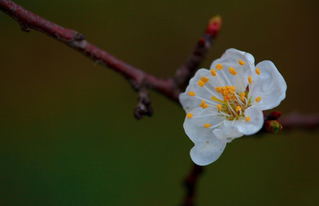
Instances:
[[[202,77],[207,77],[209,79],[204,87],[198,85],[198,81],[201,80]],[[215,78],[216,77],[213,77],[208,69],[199,69],[195,73],[195,76],[189,81],[186,91],[179,95],[179,101],[186,113],[198,108],[202,100],[205,100],[206,104],[217,105],[216,102],[211,100],[212,96],[223,99],[222,95],[215,91],[215,88],[217,87],[215,86]],[[190,96],[190,91],[194,92],[195,96]]]

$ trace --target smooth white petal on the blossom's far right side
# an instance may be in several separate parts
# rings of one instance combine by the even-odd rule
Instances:
[[[255,72],[253,81],[256,80],[256,83],[251,90],[251,101],[255,102],[260,96],[261,101],[258,104],[262,110],[277,107],[286,97],[287,85],[284,78],[271,61],[262,61],[256,67],[259,68],[260,75]]]

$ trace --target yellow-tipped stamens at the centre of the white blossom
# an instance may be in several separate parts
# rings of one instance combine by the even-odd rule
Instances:
[[[239,64],[241,66],[243,66],[245,64],[245,62],[243,62],[241,59],[238,61]],[[221,64],[217,64],[216,65],[216,69],[217,70],[222,70],[223,66]],[[241,67],[242,70],[242,67]],[[221,71],[225,78],[226,75],[223,71]],[[233,67],[229,67],[229,72],[232,75],[236,75],[237,72]],[[241,71],[242,72],[242,71]],[[258,68],[256,68],[256,74],[259,75],[260,71]],[[215,69],[211,70],[211,75],[212,76],[217,76],[218,74],[216,73]],[[236,76],[236,78],[238,78]],[[227,79],[227,78],[226,78]],[[207,77],[202,77],[201,80],[198,81],[198,85],[201,87],[204,87],[205,84],[209,81],[209,79]],[[252,78],[251,76],[248,77],[248,82],[249,84],[252,84],[252,86],[254,86],[253,82],[252,82]],[[215,96],[212,96],[211,99],[213,101],[218,102],[219,104],[213,103],[217,108],[218,108],[218,112],[214,112],[212,111],[214,114],[216,115],[221,115],[221,116],[226,116],[227,120],[234,120],[234,119],[239,119],[240,117],[245,117],[244,112],[245,109],[247,109],[248,107],[250,107],[252,105],[252,103],[250,103],[250,93],[248,92],[241,92],[241,93],[236,93],[236,88],[235,86],[228,86],[226,85],[225,87],[216,87],[215,88],[216,92],[218,92],[219,94],[221,94],[224,97],[224,101],[216,98]],[[196,94],[192,91],[190,91],[188,93],[190,96],[195,96]],[[261,101],[261,97],[257,97],[255,102],[258,103]],[[200,107],[202,107],[203,109],[209,107],[210,105],[205,103],[204,100],[202,100],[202,102],[199,104]],[[187,118],[191,118],[193,116],[193,114],[189,113],[186,115]],[[250,120],[250,117],[246,117],[245,121],[248,122]],[[219,123],[215,126],[211,126],[210,124],[205,124],[204,128],[214,128],[219,126],[222,123]]]

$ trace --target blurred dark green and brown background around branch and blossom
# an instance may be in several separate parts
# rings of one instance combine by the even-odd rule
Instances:
[[[318,1],[16,0],[159,77],[174,74],[212,15],[222,31],[202,65],[228,48],[271,60],[283,113],[314,113]],[[0,205],[178,205],[191,167],[185,113],[150,92],[133,118],[122,76],[0,12]],[[311,103],[313,101],[313,103]],[[236,139],[205,168],[198,205],[318,205],[319,132]]]

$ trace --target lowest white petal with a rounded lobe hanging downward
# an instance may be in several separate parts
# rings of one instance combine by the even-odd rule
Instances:
[[[216,138],[211,128],[204,128],[206,123],[214,126],[222,122],[225,117],[213,113],[213,108],[202,109],[200,107],[190,111],[191,118],[185,118],[184,129],[189,139],[195,146],[190,150],[190,156],[194,163],[207,165],[216,161],[226,147],[226,141]]]

